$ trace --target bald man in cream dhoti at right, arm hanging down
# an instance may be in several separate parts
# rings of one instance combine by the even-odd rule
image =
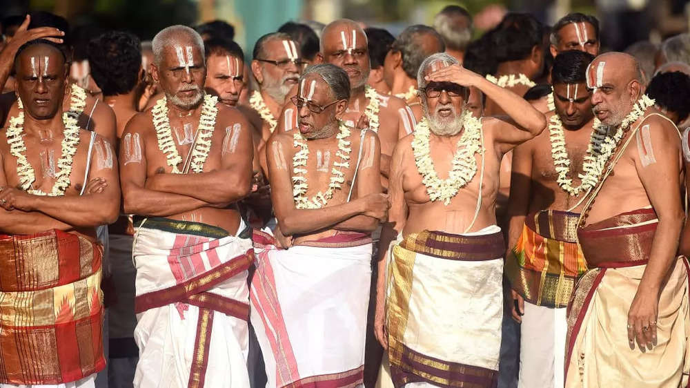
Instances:
[[[578,222],[589,271],[568,316],[566,387],[687,385],[688,263],[680,136],[642,93],[633,57],[609,52],[587,69],[596,117],[609,126]]]

